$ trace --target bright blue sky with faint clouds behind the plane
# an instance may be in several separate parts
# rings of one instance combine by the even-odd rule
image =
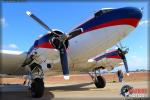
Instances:
[[[121,43],[129,47],[126,55],[129,70],[148,69],[148,3],[147,2],[3,2],[0,17],[2,49],[28,51],[35,39],[47,31],[26,15],[33,12],[50,28],[65,33],[93,17],[101,8],[133,6],[143,8],[143,18],[137,28]],[[116,68],[118,69],[118,68]],[[116,70],[115,69],[115,70]],[[119,67],[123,69],[124,67]]]

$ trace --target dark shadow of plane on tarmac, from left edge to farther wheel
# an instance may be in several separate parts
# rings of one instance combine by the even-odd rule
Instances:
[[[51,100],[55,98],[55,95],[50,92],[54,90],[63,90],[63,91],[84,91],[89,90],[89,88],[85,88],[84,86],[88,86],[93,84],[90,83],[80,83],[66,86],[54,86],[54,87],[46,87],[43,97],[41,98],[32,98],[30,91],[0,91],[0,100]],[[12,85],[13,87],[13,85]],[[84,87],[84,88],[82,88]],[[5,87],[4,87],[5,88]],[[22,85],[19,85],[19,88],[23,88]]]

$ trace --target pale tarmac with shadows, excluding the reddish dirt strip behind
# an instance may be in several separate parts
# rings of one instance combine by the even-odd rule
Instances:
[[[93,82],[79,83],[55,83],[45,84],[45,93],[41,98],[32,98],[28,87],[21,84],[0,85],[0,100],[103,100],[103,99],[125,99],[121,94],[121,87],[128,84],[138,89],[148,89],[148,81],[136,82],[108,82],[105,88],[98,89]],[[144,97],[148,97],[148,93]]]

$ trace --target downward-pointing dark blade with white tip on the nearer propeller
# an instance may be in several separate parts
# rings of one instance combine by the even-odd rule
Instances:
[[[69,68],[68,68],[67,52],[66,52],[65,47],[62,47],[60,49],[60,61],[61,61],[64,79],[68,80],[69,79]]]

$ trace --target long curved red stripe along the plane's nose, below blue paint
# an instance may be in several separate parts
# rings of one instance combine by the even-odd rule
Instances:
[[[115,25],[131,25],[131,26],[136,27],[139,20],[140,19],[137,19],[137,18],[123,18],[123,19],[113,20],[113,21],[110,21],[110,22],[106,22],[104,24],[94,26],[94,27],[92,27],[88,30],[85,30],[83,33],[89,32],[89,31],[92,31],[92,30],[96,30],[96,29],[99,29],[99,28],[104,28],[104,27],[108,27],[108,26],[115,26]]]

